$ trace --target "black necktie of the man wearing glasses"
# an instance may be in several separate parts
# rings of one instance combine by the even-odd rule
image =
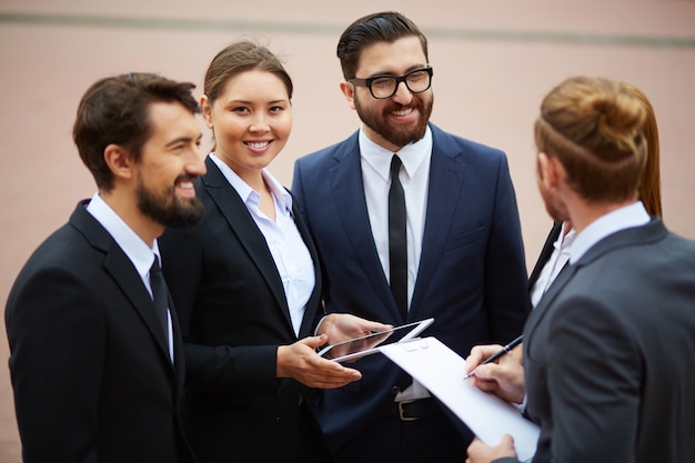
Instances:
[[[407,318],[407,241],[405,238],[405,194],[399,180],[401,159],[391,159],[391,190],[389,190],[389,261],[391,292]]]

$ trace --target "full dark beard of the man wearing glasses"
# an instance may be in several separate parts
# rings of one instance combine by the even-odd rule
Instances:
[[[392,111],[403,109],[404,107],[402,104],[389,104],[382,108],[381,111],[369,110],[360,103],[360,99],[356,98],[356,94],[354,98],[355,110],[362,122],[387,142],[401,148],[414,143],[425,135],[433,103],[434,95],[431,95],[430,100],[426,102],[423,102],[420,98],[413,97],[409,108],[417,110],[420,115],[417,123],[414,128],[400,128],[394,127],[395,124],[391,124],[389,118]]]

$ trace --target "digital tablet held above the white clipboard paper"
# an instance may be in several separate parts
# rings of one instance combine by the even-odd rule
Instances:
[[[385,331],[376,331],[363,336],[319,348],[318,353],[334,362],[359,359],[379,352],[377,346],[380,344],[393,344],[411,340],[422,333],[425,328],[430,326],[433,322],[434,319],[426,319],[394,326]]]

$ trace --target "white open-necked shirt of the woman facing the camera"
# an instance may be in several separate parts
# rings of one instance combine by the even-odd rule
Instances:
[[[260,232],[265,238],[268,249],[273,256],[278,273],[282,279],[290,318],[294,334],[299,335],[300,326],[306,311],[306,303],[316,284],[314,262],[306,243],[294,223],[292,214],[292,195],[278,182],[268,169],[263,169],[263,180],[272,193],[275,205],[275,220],[265,215],[260,209],[261,194],[244,182],[229,165],[214,153],[210,159],[230,184],[236,190]]]

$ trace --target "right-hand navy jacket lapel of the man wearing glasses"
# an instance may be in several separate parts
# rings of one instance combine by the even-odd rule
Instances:
[[[443,133],[432,128],[432,159],[430,183],[427,187],[427,209],[425,230],[422,238],[422,255],[415,280],[415,290],[410,312],[416,313],[427,292],[434,269],[437,265],[451,221],[461,197],[465,163],[460,159],[461,151],[453,143],[447,143]]]

